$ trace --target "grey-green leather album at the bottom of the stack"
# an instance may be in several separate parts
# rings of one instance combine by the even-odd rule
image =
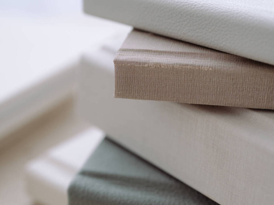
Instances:
[[[217,204],[105,138],[68,188],[69,205]]]

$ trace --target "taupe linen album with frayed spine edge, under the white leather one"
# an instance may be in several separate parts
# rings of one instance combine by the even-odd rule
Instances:
[[[116,98],[274,109],[273,65],[139,30],[114,65]]]

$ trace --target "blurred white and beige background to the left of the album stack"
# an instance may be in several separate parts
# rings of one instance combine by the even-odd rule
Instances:
[[[82,1],[0,0],[0,204],[32,204],[26,163],[89,125],[75,113],[73,72],[123,25]]]

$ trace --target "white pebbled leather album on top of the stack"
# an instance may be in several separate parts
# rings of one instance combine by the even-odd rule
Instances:
[[[84,0],[84,12],[274,65],[273,0]]]

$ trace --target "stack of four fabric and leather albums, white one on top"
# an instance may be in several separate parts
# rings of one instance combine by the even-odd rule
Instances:
[[[108,136],[69,203],[273,204],[273,2],[85,0],[84,11],[134,30],[82,59],[80,111]]]

